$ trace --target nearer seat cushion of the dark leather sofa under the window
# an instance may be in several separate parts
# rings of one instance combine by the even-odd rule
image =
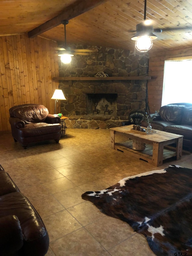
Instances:
[[[190,125],[171,125],[167,126],[165,131],[183,135],[186,140],[191,140],[192,138],[192,126]]]

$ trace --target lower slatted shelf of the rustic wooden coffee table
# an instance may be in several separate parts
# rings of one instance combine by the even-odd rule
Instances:
[[[131,155],[135,158],[143,159],[150,164],[154,164],[152,145],[146,144],[146,148],[142,151],[134,150],[132,149],[132,146],[133,146],[133,140],[127,140],[124,142],[115,143],[114,149],[127,153],[128,155]],[[176,152],[164,148],[162,160],[171,158],[176,155],[177,155]]]

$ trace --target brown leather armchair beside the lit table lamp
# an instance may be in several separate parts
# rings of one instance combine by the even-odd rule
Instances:
[[[40,104],[23,104],[9,109],[13,139],[26,149],[29,143],[43,140],[59,142],[61,137],[61,119],[49,114]]]

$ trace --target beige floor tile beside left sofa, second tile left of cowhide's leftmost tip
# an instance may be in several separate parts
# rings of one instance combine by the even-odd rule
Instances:
[[[41,218],[64,210],[64,207],[53,196],[44,197],[39,200],[33,200],[32,202]]]

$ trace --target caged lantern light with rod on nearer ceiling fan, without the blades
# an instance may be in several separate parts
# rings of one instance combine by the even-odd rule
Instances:
[[[135,48],[141,52],[147,52],[152,48],[152,40],[156,39],[157,36],[153,34],[153,26],[151,20],[146,20],[146,5],[147,0],[145,0],[144,5],[144,21],[137,24],[137,33],[131,38],[135,40]]]

